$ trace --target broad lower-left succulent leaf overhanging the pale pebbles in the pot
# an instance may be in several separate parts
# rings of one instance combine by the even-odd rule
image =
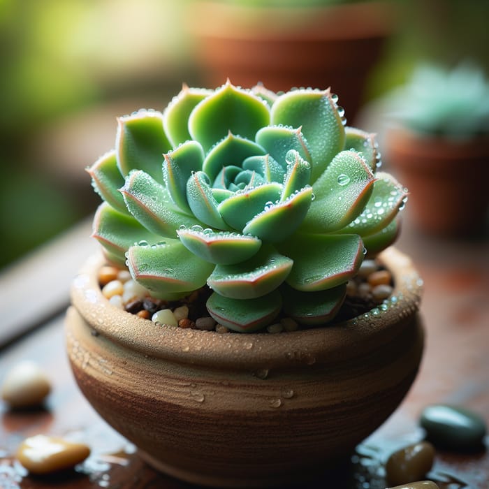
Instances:
[[[161,299],[187,295],[200,289],[214,268],[212,263],[191,253],[179,240],[156,245],[134,245],[127,254],[129,271],[134,279]]]

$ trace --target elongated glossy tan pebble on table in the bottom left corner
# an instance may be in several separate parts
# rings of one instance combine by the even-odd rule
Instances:
[[[90,448],[62,438],[36,435],[25,439],[17,459],[32,474],[50,474],[74,467],[90,455]]]

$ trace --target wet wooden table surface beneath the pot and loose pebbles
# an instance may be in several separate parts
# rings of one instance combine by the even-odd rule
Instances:
[[[489,422],[489,240],[441,240],[414,230],[409,214],[397,247],[414,259],[425,282],[421,305],[425,354],[414,386],[395,414],[317,488],[381,488],[391,451],[423,437],[427,404],[458,404]],[[64,310],[76,270],[96,249],[83,222],[0,275],[0,383],[23,359],[36,360],[53,390],[43,409],[10,411],[0,402],[0,488],[189,488],[158,474],[114,432],[78,391],[64,352]],[[92,455],[75,470],[29,476],[15,460],[24,437],[38,433],[84,441]],[[486,446],[488,439],[486,437]],[[437,451],[428,477],[442,489],[489,488],[489,453]]]

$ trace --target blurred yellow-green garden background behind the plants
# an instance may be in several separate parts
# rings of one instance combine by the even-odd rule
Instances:
[[[85,167],[112,147],[116,116],[162,110],[182,82],[204,84],[193,1],[0,0],[0,268],[94,212]],[[488,71],[488,1],[392,3],[365,102],[418,61],[469,58]]]

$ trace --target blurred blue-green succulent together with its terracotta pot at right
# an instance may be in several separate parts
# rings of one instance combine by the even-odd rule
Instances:
[[[489,82],[472,64],[423,65],[387,101],[386,160],[432,235],[483,233],[489,209]]]

